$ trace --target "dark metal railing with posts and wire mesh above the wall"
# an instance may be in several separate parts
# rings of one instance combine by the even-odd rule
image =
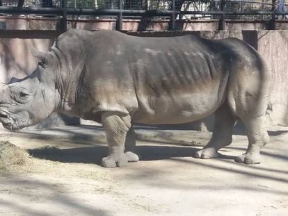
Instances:
[[[122,30],[123,17],[169,19],[170,30],[177,19],[218,19],[225,28],[227,19],[264,20],[275,28],[277,17],[288,17],[280,10],[283,0],[0,0],[0,14],[56,16],[61,29],[67,17],[115,17]]]

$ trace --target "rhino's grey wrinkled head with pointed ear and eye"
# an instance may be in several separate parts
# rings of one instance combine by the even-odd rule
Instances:
[[[54,56],[31,51],[38,60],[35,71],[22,79],[11,78],[0,89],[0,122],[10,130],[37,124],[56,109]]]

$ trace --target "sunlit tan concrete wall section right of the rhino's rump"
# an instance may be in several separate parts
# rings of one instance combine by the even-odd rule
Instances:
[[[288,31],[258,31],[257,50],[271,69],[273,122],[288,125]]]

